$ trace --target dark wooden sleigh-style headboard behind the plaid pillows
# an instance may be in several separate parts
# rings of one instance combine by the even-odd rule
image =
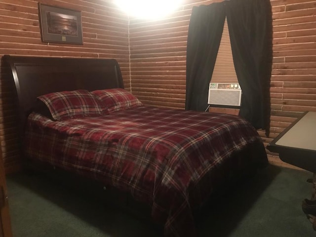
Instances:
[[[124,88],[115,59],[4,55],[3,60],[12,70],[21,129],[40,95],[65,90]]]

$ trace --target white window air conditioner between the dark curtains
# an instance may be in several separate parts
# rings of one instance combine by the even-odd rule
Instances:
[[[216,106],[240,106],[241,88],[238,83],[209,83],[208,104]]]

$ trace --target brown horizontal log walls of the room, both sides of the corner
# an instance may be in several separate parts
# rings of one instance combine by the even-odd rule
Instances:
[[[125,87],[131,87],[143,103],[184,108],[186,41],[192,7],[215,1],[220,0],[183,0],[176,12],[157,21],[128,19],[116,9],[113,0],[41,1],[81,10],[84,44],[72,45],[41,42],[37,1],[1,0],[0,57],[13,54],[116,58]],[[273,70],[269,138],[259,130],[265,145],[302,112],[316,111],[316,1],[271,0],[271,5]],[[8,68],[2,65],[0,139],[5,168],[10,172],[20,160],[16,102],[8,73]],[[287,166],[276,154],[267,152],[271,163]]]

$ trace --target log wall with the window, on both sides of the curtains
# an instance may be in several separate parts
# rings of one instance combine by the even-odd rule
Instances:
[[[221,1],[221,0],[216,0]],[[186,41],[192,7],[215,0],[184,0],[172,15],[158,21],[131,19],[131,86],[144,103],[184,108]],[[306,110],[316,111],[316,1],[271,0],[273,70],[270,135],[267,145]],[[277,154],[272,163],[285,165]]]

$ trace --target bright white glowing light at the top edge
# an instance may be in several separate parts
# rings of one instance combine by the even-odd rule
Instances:
[[[170,14],[182,0],[116,0],[128,15],[137,18],[157,19]]]

